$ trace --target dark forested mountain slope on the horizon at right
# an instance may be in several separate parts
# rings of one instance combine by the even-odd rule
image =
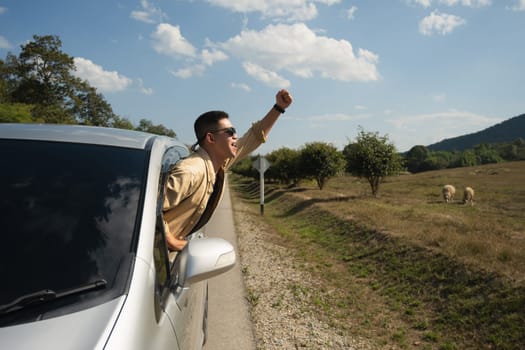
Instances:
[[[482,143],[512,142],[517,138],[525,140],[525,114],[473,134],[444,139],[427,148],[431,151],[463,151]]]

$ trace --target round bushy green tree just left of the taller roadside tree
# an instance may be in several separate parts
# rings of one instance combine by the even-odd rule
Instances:
[[[301,149],[299,159],[304,177],[315,179],[320,190],[329,178],[344,171],[345,167],[343,155],[325,142],[307,143]]]

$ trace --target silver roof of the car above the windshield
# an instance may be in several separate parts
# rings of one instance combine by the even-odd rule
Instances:
[[[146,144],[156,137],[164,136],[83,125],[0,124],[0,138],[3,139],[76,142],[144,149]]]

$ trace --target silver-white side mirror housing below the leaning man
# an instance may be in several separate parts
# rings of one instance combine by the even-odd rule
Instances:
[[[235,249],[222,238],[206,237],[188,241],[176,259],[177,285],[191,284],[220,275],[235,265]]]

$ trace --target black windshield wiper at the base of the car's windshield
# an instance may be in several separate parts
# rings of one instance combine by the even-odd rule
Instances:
[[[22,295],[10,303],[0,305],[0,314],[4,315],[10,312],[24,309],[28,306],[46,303],[50,300],[56,300],[73,294],[85,293],[96,290],[107,285],[104,279],[89,282],[77,287],[68,288],[61,292],[55,292],[52,289],[43,289],[38,292]]]

